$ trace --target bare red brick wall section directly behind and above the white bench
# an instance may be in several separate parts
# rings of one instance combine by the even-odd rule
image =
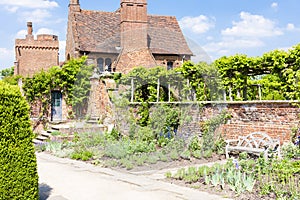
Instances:
[[[230,104],[228,111],[232,118],[222,126],[226,138],[263,131],[281,142],[289,141],[300,119],[300,108],[286,102]]]

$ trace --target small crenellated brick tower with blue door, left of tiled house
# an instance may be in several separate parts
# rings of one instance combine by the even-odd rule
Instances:
[[[34,38],[32,22],[27,22],[27,35],[25,39],[15,40],[15,70],[14,75],[32,77],[42,70],[47,71],[59,65],[59,40],[56,35],[40,34]],[[20,86],[22,82],[19,82]],[[59,90],[51,92],[50,120],[62,120],[66,110],[62,93]],[[38,118],[41,112],[41,102],[31,104],[31,117]]]

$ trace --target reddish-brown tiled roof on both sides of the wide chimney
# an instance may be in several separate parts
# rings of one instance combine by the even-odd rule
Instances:
[[[119,53],[119,12],[81,10],[74,17],[75,42],[81,51]],[[149,15],[148,44],[153,54],[192,55],[175,17]]]

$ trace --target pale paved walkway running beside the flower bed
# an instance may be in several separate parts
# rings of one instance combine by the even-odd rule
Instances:
[[[216,195],[37,153],[40,200],[221,200]],[[228,199],[227,199],[228,200]]]

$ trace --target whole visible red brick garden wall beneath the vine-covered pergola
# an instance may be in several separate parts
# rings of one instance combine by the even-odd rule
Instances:
[[[263,131],[283,143],[290,140],[292,129],[300,119],[299,105],[290,101],[204,102],[180,106],[188,108],[188,115],[192,117],[192,121],[180,127],[184,133],[201,134],[201,124],[226,110],[231,119],[219,129],[226,139]]]

